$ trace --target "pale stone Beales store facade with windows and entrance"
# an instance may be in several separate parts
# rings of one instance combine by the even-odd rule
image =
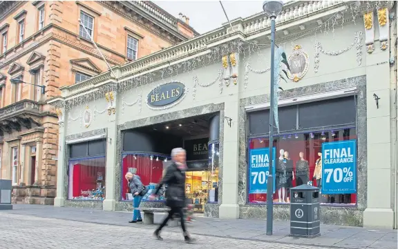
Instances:
[[[290,188],[310,184],[321,188],[323,223],[396,226],[391,6],[288,3],[276,18],[290,70],[272,141],[274,219],[289,219]],[[269,20],[232,26],[62,89],[51,101],[61,125],[56,206],[131,210],[126,172],[154,188],[171,148],[184,147],[197,212],[265,219]]]

